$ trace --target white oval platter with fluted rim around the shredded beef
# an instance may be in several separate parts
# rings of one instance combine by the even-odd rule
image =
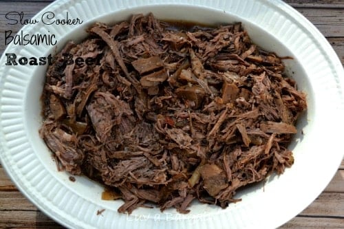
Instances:
[[[70,182],[56,171],[50,151],[39,138],[40,96],[47,66],[6,66],[0,59],[1,164],[21,192],[45,214],[69,228],[276,228],[307,207],[330,182],[343,158],[344,73],[332,47],[296,10],[279,0],[75,0],[54,1],[45,12],[79,18],[81,25],[25,25],[24,34],[55,34],[57,45],[8,45],[5,53],[47,56],[68,40],[85,38],[96,21],[116,23],[131,14],[153,12],[159,19],[200,23],[241,21],[252,40],[286,60],[288,74],[308,94],[308,111],[298,123],[290,149],[295,163],[280,177],[250,187],[243,200],[221,209],[193,202],[191,213],[140,208],[119,214],[122,201],[102,201],[103,187],[85,177]],[[303,131],[303,135],[301,134]],[[103,210],[97,215],[98,210]]]

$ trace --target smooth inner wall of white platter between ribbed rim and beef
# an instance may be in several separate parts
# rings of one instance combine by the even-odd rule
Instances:
[[[168,9],[168,10],[167,10]],[[107,24],[114,24],[120,21],[129,20],[132,14],[148,14],[152,12],[156,18],[164,21],[190,21],[197,24],[208,24],[208,25],[219,25],[225,23],[235,23],[241,22],[244,29],[248,31],[252,42],[257,44],[259,47],[267,50],[269,52],[275,52],[278,56],[288,56],[291,58],[287,58],[284,60],[284,64],[286,65],[286,74],[287,76],[293,78],[297,81],[298,89],[305,92],[307,94],[308,99],[308,111],[304,112],[303,115],[299,118],[297,122],[297,129],[298,133],[294,136],[294,140],[292,144],[290,144],[290,149],[294,152],[295,157],[295,164],[297,166],[299,162],[299,155],[302,153],[300,149],[303,148],[303,139],[307,138],[304,136],[301,131],[308,132],[308,130],[312,127],[312,124],[308,120],[314,120],[314,101],[313,101],[313,89],[312,84],[310,82],[310,78],[308,77],[305,69],[301,65],[298,56],[296,56],[292,50],[290,50],[286,45],[281,43],[279,39],[277,39],[274,34],[262,29],[259,25],[255,25],[254,23],[250,23],[250,21],[246,21],[240,17],[236,17],[233,14],[228,14],[226,12],[222,12],[219,10],[211,10],[208,8],[197,8],[195,6],[149,6],[149,7],[141,7],[141,8],[132,8],[128,10],[121,10],[116,14],[108,14],[103,17],[99,17],[94,19],[93,21],[89,21],[85,23],[85,25],[76,28],[72,32],[65,34],[65,36],[61,37],[60,41],[57,45],[57,50],[61,50],[61,47],[65,45],[67,41],[81,41],[86,38],[87,33],[85,30],[95,22],[103,22]],[[193,12],[190,14],[188,12]],[[47,54],[54,53],[56,47],[47,50]],[[32,147],[36,152],[36,155],[39,157],[41,162],[45,165],[48,171],[56,179],[61,182],[65,182],[69,188],[74,190],[77,195],[84,197],[85,199],[93,199],[93,201],[99,201],[102,205],[106,206],[106,208],[111,208],[116,210],[122,201],[102,201],[100,199],[101,193],[104,190],[103,186],[87,179],[87,177],[76,177],[76,182],[69,182],[68,177],[69,174],[66,172],[57,172],[56,171],[56,162],[52,160],[52,153],[47,149],[47,146],[43,142],[43,140],[39,137],[39,129],[41,128],[42,118],[41,118],[41,94],[43,90],[43,83],[45,80],[45,71],[46,67],[37,68],[35,72],[34,78],[30,81],[27,94],[25,96],[25,120],[26,124],[28,125],[28,129],[32,130],[33,134],[29,136],[30,141],[33,142]],[[36,134],[35,134],[36,133]],[[294,168],[288,168],[286,170],[286,174],[289,173],[289,170]],[[283,177],[284,175],[282,175]],[[268,190],[270,185],[278,186],[281,179],[272,175],[266,184],[260,183],[255,186],[250,186],[249,188],[245,188],[237,193],[237,198],[242,198],[243,201],[238,202],[237,204],[230,204],[227,210],[222,210],[217,206],[208,206],[205,204],[200,204],[194,202],[191,206],[191,214],[202,214],[204,212],[211,211],[211,213],[228,211],[232,208],[238,208],[241,205],[244,205],[246,201],[254,201],[255,199],[260,199],[266,194],[264,193],[264,189]],[[265,186],[263,188],[263,186]],[[293,186],[291,183],[290,186]],[[87,192],[85,192],[87,189]],[[149,212],[150,215],[155,215],[160,213],[158,208],[153,209],[138,209],[133,212],[135,214],[144,214]],[[175,210],[166,210],[166,212],[175,213]],[[166,215],[165,215],[166,216]],[[187,216],[186,216],[187,217]]]

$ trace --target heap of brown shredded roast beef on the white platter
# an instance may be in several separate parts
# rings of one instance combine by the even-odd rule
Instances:
[[[153,202],[186,213],[193,199],[226,208],[237,188],[292,166],[305,94],[240,23],[178,28],[136,14],[88,32],[47,71],[40,133],[60,169],[122,198],[119,212]]]

